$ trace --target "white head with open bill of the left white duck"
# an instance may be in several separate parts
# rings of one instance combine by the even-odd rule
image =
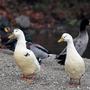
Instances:
[[[20,30],[20,29],[14,29],[14,31],[12,32],[12,34],[11,35],[9,35],[9,39],[10,40],[13,40],[13,39],[16,39],[16,38],[19,38],[21,35],[24,35],[23,34],[23,32],[22,32],[22,30]]]

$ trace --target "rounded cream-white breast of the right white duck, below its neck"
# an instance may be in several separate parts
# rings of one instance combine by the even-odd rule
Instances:
[[[85,63],[76,53],[68,54],[65,62],[65,71],[71,78],[78,79],[85,72]]]

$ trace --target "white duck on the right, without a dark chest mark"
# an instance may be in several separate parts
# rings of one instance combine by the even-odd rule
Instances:
[[[67,42],[65,72],[70,77],[70,85],[80,85],[80,79],[85,73],[84,60],[77,52],[73,43],[73,38],[70,34],[64,33],[58,40],[58,43],[63,41]],[[75,80],[77,80],[78,82],[74,82]]]

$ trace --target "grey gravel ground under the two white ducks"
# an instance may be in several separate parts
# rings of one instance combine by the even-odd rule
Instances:
[[[70,87],[64,67],[57,64],[54,55],[43,60],[41,72],[32,84],[20,79],[20,70],[13,53],[0,50],[0,90],[90,90],[90,59],[85,59],[86,73],[79,87]]]

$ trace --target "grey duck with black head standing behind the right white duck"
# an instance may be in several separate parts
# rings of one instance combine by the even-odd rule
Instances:
[[[83,17],[83,19],[80,22],[79,34],[74,39],[75,48],[81,56],[85,52],[88,45],[89,35],[88,35],[86,27],[89,25],[90,25],[89,19],[86,17]],[[66,47],[60,52],[59,55],[56,55],[57,62],[60,65],[65,65],[65,58],[66,58]]]

